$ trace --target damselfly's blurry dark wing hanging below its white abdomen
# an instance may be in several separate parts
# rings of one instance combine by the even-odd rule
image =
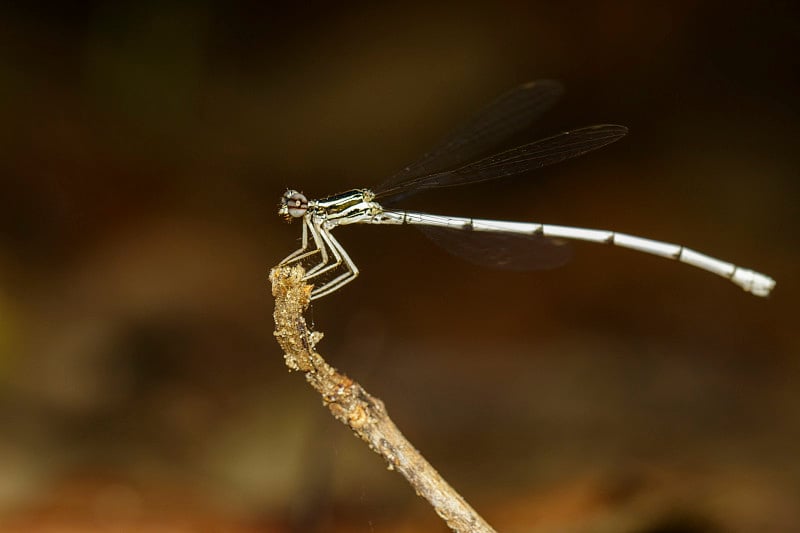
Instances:
[[[572,247],[565,241],[542,235],[415,227],[451,254],[483,267],[543,270],[559,267],[572,257]]]

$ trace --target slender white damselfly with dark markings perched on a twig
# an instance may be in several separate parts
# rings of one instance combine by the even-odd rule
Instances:
[[[555,103],[561,92],[561,85],[550,80],[511,90],[451,133],[437,148],[372,189],[353,189],[320,200],[309,200],[295,190],[286,191],[278,213],[288,220],[302,219],[303,236],[300,248],[281,265],[311,262],[305,279],[317,282],[311,299],[320,298],[358,275],[355,263],[333,237],[334,228],[345,224],[413,224],[449,251],[480,264],[515,270],[553,268],[570,257],[564,240],[571,239],[674,259],[727,278],[756,296],[770,293],[775,281],[769,276],[677,244],[614,231],[429,215],[384,207],[422,190],[493,180],[572,159],[627,133],[624,126],[613,124],[588,126],[486,156],[527,128]]]

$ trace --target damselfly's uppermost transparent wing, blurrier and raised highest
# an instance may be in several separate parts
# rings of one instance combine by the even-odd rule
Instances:
[[[461,166],[497,149],[550,109],[564,89],[553,80],[520,85],[483,108],[439,145],[373,190],[388,190],[419,176]]]

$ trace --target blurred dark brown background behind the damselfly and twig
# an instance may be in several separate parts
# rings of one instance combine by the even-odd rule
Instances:
[[[0,530],[445,531],[284,367],[267,272],[300,226],[277,203],[377,183],[556,78],[543,133],[629,136],[404,206],[678,242],[774,295],[602,246],[509,273],[348,227],[362,276],[310,311],[321,352],[499,531],[800,531],[796,3],[18,4]]]

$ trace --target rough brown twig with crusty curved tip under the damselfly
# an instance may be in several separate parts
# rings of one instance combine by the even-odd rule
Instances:
[[[333,416],[381,455],[390,470],[400,472],[450,529],[458,533],[495,533],[400,433],[383,402],[340,374],[316,352],[314,347],[322,333],[310,331],[303,317],[311,296],[311,286],[303,282],[303,274],[300,266],[277,267],[270,272],[275,337],[283,348],[286,366],[304,372]]]

